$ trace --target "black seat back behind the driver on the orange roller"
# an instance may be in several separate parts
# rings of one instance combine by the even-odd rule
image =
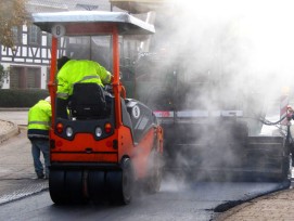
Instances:
[[[105,94],[97,83],[75,83],[68,104],[77,119],[99,119],[106,116]]]

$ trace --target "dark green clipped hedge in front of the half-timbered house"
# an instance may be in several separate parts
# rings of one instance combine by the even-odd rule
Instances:
[[[0,89],[0,107],[31,107],[48,95],[41,89]]]

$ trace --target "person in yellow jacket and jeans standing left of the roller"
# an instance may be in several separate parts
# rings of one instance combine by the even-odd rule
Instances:
[[[27,138],[31,143],[31,155],[35,172],[38,179],[49,178],[50,151],[49,151],[49,128],[51,123],[51,100],[40,100],[30,107],[28,112]],[[43,155],[44,167],[40,160],[40,153]]]

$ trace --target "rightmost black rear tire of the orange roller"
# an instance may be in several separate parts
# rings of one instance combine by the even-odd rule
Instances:
[[[107,171],[106,186],[111,200],[119,205],[131,202],[133,187],[133,170],[129,158],[122,160],[122,171]]]

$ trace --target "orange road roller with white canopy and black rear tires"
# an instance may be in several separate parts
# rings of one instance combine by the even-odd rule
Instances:
[[[124,39],[141,42],[154,26],[125,12],[34,13],[52,39],[48,89],[52,104],[49,193],[55,204],[127,205],[136,186],[159,191],[164,131],[152,109],[126,96],[119,72]],[[46,39],[46,38],[43,38]],[[43,51],[41,52],[43,53]],[[91,60],[108,67],[108,86],[76,82],[60,115],[57,58]]]

